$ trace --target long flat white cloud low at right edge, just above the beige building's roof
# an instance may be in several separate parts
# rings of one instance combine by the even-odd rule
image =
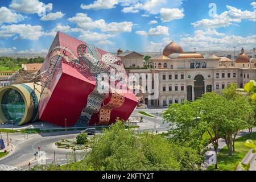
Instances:
[[[195,34],[186,38],[180,39],[180,46],[187,50],[192,50],[194,47],[200,51],[213,50],[233,50],[233,46],[241,46],[245,49],[255,47],[255,35],[242,37],[236,35],[216,37],[210,35],[209,32],[195,31]]]

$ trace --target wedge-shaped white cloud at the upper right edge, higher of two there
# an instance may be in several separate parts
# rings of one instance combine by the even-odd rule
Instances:
[[[220,15],[214,15],[213,19],[202,19],[195,23],[191,23],[194,27],[204,27],[204,28],[218,28],[218,27],[228,27],[236,23],[241,23],[243,19],[251,20],[255,22],[256,11],[242,11],[236,9],[236,7],[226,6],[228,11],[224,11]]]

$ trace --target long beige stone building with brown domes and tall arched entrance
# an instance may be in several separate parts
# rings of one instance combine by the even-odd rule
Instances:
[[[194,101],[206,92],[218,93],[233,82],[242,88],[246,82],[256,78],[256,62],[245,55],[243,48],[236,60],[230,60],[184,52],[177,43],[171,42],[162,54],[150,61],[151,69],[127,70],[127,73],[159,73],[159,97],[148,100],[146,94],[142,102],[148,106]]]

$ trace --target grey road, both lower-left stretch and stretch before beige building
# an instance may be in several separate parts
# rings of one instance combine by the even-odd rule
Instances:
[[[132,116],[133,117],[143,117],[144,122],[139,122],[140,131],[158,131],[158,133],[162,133],[167,131],[167,124],[163,124],[163,118],[156,117],[156,127],[155,118],[147,117],[145,115],[139,114],[138,111],[146,111],[148,114],[155,115],[155,113],[162,113],[164,109],[145,109],[145,110],[137,110],[135,109]],[[159,114],[160,115],[160,114]],[[40,151],[46,152],[46,163],[51,164],[54,161],[53,152],[55,151],[55,159],[57,164],[65,164],[67,163],[67,156],[72,158],[72,150],[60,149],[56,148],[55,142],[65,138],[65,139],[73,139],[76,138],[77,134],[80,131],[61,131],[56,133],[45,133],[45,134],[9,134],[9,143],[12,138],[12,144],[14,146],[14,150],[10,155],[7,155],[5,158],[0,159],[0,170],[7,169],[28,169],[28,163],[31,163],[31,166],[36,166],[38,164],[38,160],[35,160],[34,154],[38,151],[38,147],[40,147]],[[7,141],[6,133],[2,134],[3,139]],[[10,146],[7,146],[7,150],[10,150]],[[84,153],[82,151],[76,151],[76,159],[82,159],[81,156]]]

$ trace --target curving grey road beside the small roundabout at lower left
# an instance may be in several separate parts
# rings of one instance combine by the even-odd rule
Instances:
[[[0,165],[29,168],[28,163],[31,163],[31,166],[36,166],[38,160],[34,159],[34,154],[38,151],[38,147],[40,147],[40,151],[46,152],[47,164],[51,164],[54,161],[53,151],[55,151],[56,163],[60,165],[65,164],[67,163],[67,155],[73,151],[58,149],[55,146],[55,142],[63,138],[76,138],[78,133],[79,131],[67,131],[34,135],[33,137],[20,141],[18,144],[14,144],[14,151],[6,158],[0,159]],[[15,137],[24,138],[24,134],[16,134]],[[76,159],[81,159],[81,151],[76,151],[76,154]],[[68,156],[71,158],[72,154]]]

